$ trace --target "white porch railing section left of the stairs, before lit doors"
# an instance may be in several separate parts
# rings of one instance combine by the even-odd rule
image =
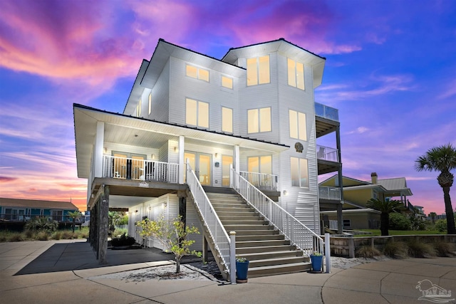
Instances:
[[[179,164],[103,155],[103,177],[177,184]]]

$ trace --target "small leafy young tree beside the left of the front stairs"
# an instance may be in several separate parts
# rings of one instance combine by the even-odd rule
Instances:
[[[195,241],[187,239],[189,234],[199,234],[197,227],[185,226],[182,222],[182,216],[175,219],[165,219],[165,216],[160,216],[157,221],[149,221],[144,219],[136,224],[142,228],[140,235],[142,237],[155,237],[165,249],[174,253],[176,258],[176,273],[180,273],[180,260],[184,256],[201,256],[200,252],[195,250],[190,251]]]

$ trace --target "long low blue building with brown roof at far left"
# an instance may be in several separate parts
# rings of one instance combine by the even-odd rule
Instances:
[[[45,216],[55,221],[71,221],[68,212],[78,208],[69,201],[41,201],[35,199],[7,199],[0,197],[0,221],[28,221],[35,216]]]

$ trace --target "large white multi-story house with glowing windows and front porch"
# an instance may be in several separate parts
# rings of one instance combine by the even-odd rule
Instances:
[[[318,174],[341,175],[338,110],[314,102],[324,65],[325,58],[283,38],[230,48],[221,60],[160,39],[123,113],[74,105],[78,177],[88,179],[93,234],[103,233],[94,220],[107,208],[129,212],[128,234],[137,240],[135,223],[160,214],[182,215],[205,234],[212,228],[202,229],[202,213],[215,208],[200,204],[227,189],[276,208],[265,215],[287,211],[276,220],[297,220],[320,234],[322,196],[342,214],[340,187],[318,189]],[[336,147],[318,146],[330,133]],[[252,185],[242,188],[245,180]],[[247,187],[261,193],[250,196]],[[232,228],[221,231],[227,236]],[[201,250],[205,242],[196,238]]]

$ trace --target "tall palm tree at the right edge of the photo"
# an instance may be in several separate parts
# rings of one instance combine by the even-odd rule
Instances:
[[[455,176],[450,171],[456,169],[456,147],[447,144],[430,148],[426,154],[415,160],[415,169],[417,171],[440,172],[437,182],[443,190],[445,214],[447,214],[447,231],[448,234],[456,234],[455,216],[450,198],[450,187],[455,180]]]

